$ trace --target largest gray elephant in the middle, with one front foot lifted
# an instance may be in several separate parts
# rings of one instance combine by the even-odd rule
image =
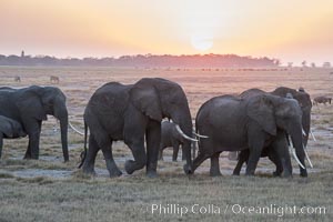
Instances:
[[[101,149],[110,176],[121,175],[111,145],[112,141],[123,140],[134,158],[125,162],[127,173],[132,174],[147,167],[148,176],[155,176],[163,118],[171,119],[192,137],[188,99],[175,82],[144,78],[130,85],[110,82],[98,89],[84,111],[90,137],[89,150],[82,163],[83,172],[94,174],[94,160]],[[185,142],[182,149],[186,159],[184,171],[191,173],[191,142]]]

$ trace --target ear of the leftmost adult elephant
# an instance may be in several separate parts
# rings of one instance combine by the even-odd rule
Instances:
[[[30,87],[22,91],[21,97],[16,102],[21,117],[37,120],[48,119],[41,101],[42,90],[40,87]]]

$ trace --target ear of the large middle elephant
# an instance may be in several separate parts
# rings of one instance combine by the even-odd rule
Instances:
[[[149,118],[162,121],[162,108],[158,90],[153,82],[140,80],[130,90],[132,104]]]

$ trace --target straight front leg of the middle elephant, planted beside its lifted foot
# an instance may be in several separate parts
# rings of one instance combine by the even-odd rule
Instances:
[[[159,144],[161,143],[161,122],[150,121],[145,134],[147,139],[147,175],[157,176]]]

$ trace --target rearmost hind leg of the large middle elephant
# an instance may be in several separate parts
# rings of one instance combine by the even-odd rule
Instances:
[[[92,134],[89,135],[89,149],[85,157],[85,160],[83,162],[83,172],[88,174],[95,174],[94,172],[94,161],[97,153],[99,152],[100,148]]]

